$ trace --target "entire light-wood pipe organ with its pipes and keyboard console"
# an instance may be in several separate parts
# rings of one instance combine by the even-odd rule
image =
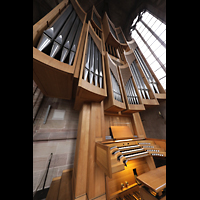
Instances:
[[[139,112],[166,92],[107,13],[101,18],[93,6],[86,17],[77,0],[64,0],[33,26],[34,81],[79,110],[70,199],[164,200],[165,169],[153,157],[166,157],[165,140],[146,138]],[[153,170],[158,185],[148,178]]]

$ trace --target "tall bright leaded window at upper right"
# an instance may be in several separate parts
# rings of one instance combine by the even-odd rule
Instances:
[[[137,21],[136,17],[133,24]],[[166,90],[166,25],[149,11],[142,14],[132,30],[131,37],[137,42],[144,57]]]

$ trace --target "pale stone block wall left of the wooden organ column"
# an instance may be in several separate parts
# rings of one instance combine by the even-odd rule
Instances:
[[[45,172],[51,153],[45,188],[50,187],[52,179],[61,176],[63,170],[73,168],[79,120],[79,112],[73,110],[73,104],[73,101],[43,97],[33,123],[33,191]],[[43,124],[48,105],[51,109]]]

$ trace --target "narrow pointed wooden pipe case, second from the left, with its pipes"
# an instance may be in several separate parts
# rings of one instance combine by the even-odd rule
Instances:
[[[87,25],[85,45],[75,99],[75,109],[83,102],[100,102],[107,96],[103,44],[90,21]]]

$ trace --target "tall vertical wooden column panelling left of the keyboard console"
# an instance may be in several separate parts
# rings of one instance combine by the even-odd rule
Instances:
[[[102,140],[102,103],[83,104],[74,159],[74,198],[87,194],[88,199],[105,194],[105,174],[97,165],[95,142]]]

